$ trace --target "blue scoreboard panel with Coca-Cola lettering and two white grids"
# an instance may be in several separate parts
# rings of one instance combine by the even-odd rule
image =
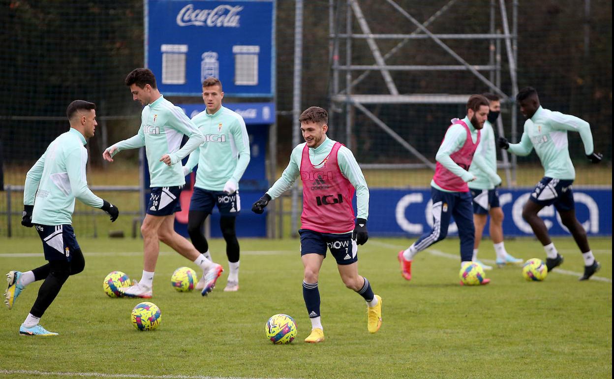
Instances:
[[[227,96],[273,97],[274,0],[146,0],[145,64],[167,96],[200,96],[206,77]]]

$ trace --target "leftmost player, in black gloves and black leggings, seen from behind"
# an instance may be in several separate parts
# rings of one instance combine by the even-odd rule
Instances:
[[[19,328],[22,335],[57,335],[39,324],[41,317],[71,275],[83,271],[85,260],[74,230],[72,213],[75,198],[93,208],[103,209],[111,221],[119,216],[117,207],[94,195],[87,186],[87,138],[96,129],[96,105],[75,100],[66,109],[70,129],[49,144],[45,153],[26,174],[21,225],[36,227],[48,264],[27,272],[11,271],[5,293],[9,309],[21,291],[44,279],[36,301]]]

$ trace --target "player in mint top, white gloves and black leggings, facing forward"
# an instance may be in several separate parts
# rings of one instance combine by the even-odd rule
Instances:
[[[249,163],[249,137],[243,117],[222,106],[222,83],[215,77],[203,81],[203,101],[207,108],[192,121],[203,133],[205,143],[190,154],[184,166],[184,175],[198,164],[196,184],[190,201],[188,233],[195,248],[205,257],[209,244],[202,229],[206,218],[217,205],[220,211],[220,229],[226,241],[228,257],[228,283],[224,291],[239,289],[239,241],[236,239],[235,220],[241,210],[239,179]],[[203,289],[201,280],[196,289]]]

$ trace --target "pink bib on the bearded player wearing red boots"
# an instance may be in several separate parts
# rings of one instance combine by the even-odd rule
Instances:
[[[457,123],[459,123],[465,128],[465,130],[467,131],[467,139],[465,139],[465,144],[461,147],[461,149],[451,154],[450,158],[452,158],[454,163],[456,163],[457,165],[461,166],[465,170],[469,170],[469,166],[471,166],[471,162],[473,160],[473,154],[475,154],[475,149],[478,148],[478,144],[480,143],[481,133],[480,130],[478,130],[478,138],[476,139],[475,143],[473,143],[471,139],[471,131],[469,130],[467,124],[463,120],[453,121],[454,123],[452,125],[456,125]],[[448,129],[452,127],[452,125],[450,125]],[[445,139],[446,138],[444,136],[441,140],[441,144],[443,144],[443,141]],[[456,176],[456,174],[453,174],[452,171],[445,168],[439,162],[437,162],[437,165],[435,166],[435,176],[433,176],[433,181],[437,183],[437,186],[440,186],[441,188],[449,191],[469,191],[469,186],[467,186],[467,183],[465,183],[465,181],[463,181],[460,176]]]

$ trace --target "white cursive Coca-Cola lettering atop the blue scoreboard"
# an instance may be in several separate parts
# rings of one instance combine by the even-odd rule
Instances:
[[[220,26],[223,28],[238,28],[243,10],[242,6],[217,6],[214,9],[194,9],[193,4],[183,7],[177,14],[177,25],[179,26]]]

